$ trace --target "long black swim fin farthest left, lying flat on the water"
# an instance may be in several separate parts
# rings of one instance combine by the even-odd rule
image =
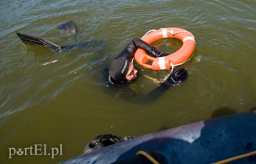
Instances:
[[[17,35],[19,36],[19,38],[21,39],[21,41],[23,41],[23,43],[25,44],[31,44],[31,45],[39,45],[42,46],[44,45],[45,47],[51,49],[52,51],[60,51],[62,50],[62,48],[50,41],[46,41],[45,39],[36,37],[36,36],[32,36],[32,35],[28,35],[28,34],[21,34],[21,33],[17,33]]]

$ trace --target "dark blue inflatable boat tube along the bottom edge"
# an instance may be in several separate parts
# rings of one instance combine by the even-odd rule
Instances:
[[[232,164],[256,163],[253,152],[256,153],[256,111],[158,131],[105,146],[61,163],[154,163],[146,159],[149,157],[156,157],[159,163],[169,164],[221,163],[227,159],[231,159],[229,161]]]

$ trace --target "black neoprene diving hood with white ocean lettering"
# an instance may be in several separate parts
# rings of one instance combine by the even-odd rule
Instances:
[[[130,62],[126,59],[114,59],[107,67],[108,75],[116,81],[124,81],[129,69]]]

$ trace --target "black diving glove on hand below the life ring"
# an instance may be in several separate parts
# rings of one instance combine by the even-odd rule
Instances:
[[[175,86],[177,83],[181,83],[187,79],[188,73],[185,68],[176,69],[171,72],[169,77],[164,81],[166,85]]]

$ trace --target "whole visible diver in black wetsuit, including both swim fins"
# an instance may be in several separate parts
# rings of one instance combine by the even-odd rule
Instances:
[[[76,26],[73,20],[71,20],[65,24],[58,26],[58,30],[60,34],[72,34],[76,33]],[[57,52],[66,51],[77,46],[77,44],[75,44],[71,46],[60,47],[50,41],[36,36],[20,33],[17,33],[17,35],[25,44],[44,45],[52,51]],[[126,46],[126,48],[124,48],[124,50],[108,64],[107,73],[109,83],[117,84],[130,82],[137,78],[137,70],[135,70],[130,60],[134,57],[134,54],[138,48],[147,51],[153,57],[163,57],[169,55],[157,51],[153,46],[150,46],[148,43],[142,41],[139,38],[132,39],[132,41]],[[171,72],[169,77],[160,86],[156,87],[156,89],[151,91],[148,95],[161,95],[161,93],[168,90],[170,86],[176,85],[177,83],[186,80],[187,76],[188,73],[184,68],[176,69],[175,71]]]

